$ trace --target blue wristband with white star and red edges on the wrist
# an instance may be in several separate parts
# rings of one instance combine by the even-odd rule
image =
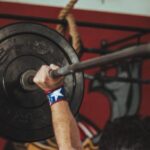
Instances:
[[[56,102],[64,100],[65,99],[64,86],[61,86],[53,91],[47,92],[47,98],[50,106],[52,106]]]

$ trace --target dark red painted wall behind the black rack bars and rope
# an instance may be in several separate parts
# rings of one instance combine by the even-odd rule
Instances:
[[[0,3],[0,13],[57,18],[59,11],[60,8],[2,3],[2,2]],[[82,11],[82,10],[73,10],[72,12],[77,20],[150,28],[149,17],[121,15],[96,11]],[[8,24],[10,22],[13,22],[13,20],[1,19],[0,26]],[[55,25],[52,24],[49,24],[48,26],[52,28],[55,27]],[[122,32],[116,30],[104,30],[86,27],[79,27],[79,32],[81,34],[84,46],[88,48],[92,47],[99,48],[100,41],[102,39],[107,39],[108,42],[112,42],[114,40],[134,34],[134,32]],[[149,40],[150,40],[149,35],[144,36],[142,38],[143,42],[149,42]],[[134,40],[132,40],[132,42],[134,42]],[[96,56],[95,54],[84,54],[82,59],[88,59],[95,56]],[[150,66],[149,62],[144,64],[143,78],[150,78],[149,66]],[[88,71],[88,73],[94,74],[95,71],[96,69],[91,69]],[[91,119],[97,126],[103,127],[110,115],[109,102],[105,95],[99,94],[97,92],[88,93],[87,91],[88,84],[89,81],[86,81],[85,95],[80,112],[86,115],[89,119]],[[149,115],[150,101],[148,97],[150,96],[149,94],[150,85],[144,85],[142,90],[143,90],[142,103],[139,112],[142,115]]]

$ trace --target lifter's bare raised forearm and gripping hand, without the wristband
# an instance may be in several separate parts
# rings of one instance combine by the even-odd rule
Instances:
[[[49,77],[50,69],[58,67],[51,65],[42,66],[34,77],[34,82],[44,91],[57,88],[61,84],[61,78]],[[60,83],[60,84],[58,84]],[[64,99],[51,105],[52,123],[59,150],[81,150],[80,136],[77,123],[70,111],[68,102]]]

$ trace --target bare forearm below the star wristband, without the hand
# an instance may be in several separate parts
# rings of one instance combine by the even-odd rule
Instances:
[[[81,150],[79,131],[68,103],[60,101],[51,106],[55,136],[60,150]]]

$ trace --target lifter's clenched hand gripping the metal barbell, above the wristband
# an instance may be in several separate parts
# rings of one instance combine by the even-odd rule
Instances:
[[[63,84],[63,77],[53,79],[49,76],[51,70],[57,70],[58,68],[59,67],[54,64],[41,66],[33,78],[33,82],[45,92],[60,87]]]

